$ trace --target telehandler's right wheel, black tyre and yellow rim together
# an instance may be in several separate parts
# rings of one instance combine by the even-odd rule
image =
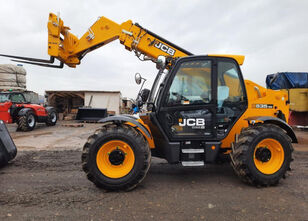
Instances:
[[[273,124],[244,128],[235,143],[231,165],[240,179],[256,186],[279,183],[290,170],[291,138]]]

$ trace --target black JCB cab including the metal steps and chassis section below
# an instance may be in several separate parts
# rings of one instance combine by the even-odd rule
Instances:
[[[161,68],[147,101],[149,112],[140,118],[155,137],[152,155],[194,166],[216,160],[221,140],[248,107],[239,63],[218,56],[183,57]]]

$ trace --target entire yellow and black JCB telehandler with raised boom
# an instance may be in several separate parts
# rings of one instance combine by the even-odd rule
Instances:
[[[287,124],[288,96],[244,80],[239,67],[244,56],[194,56],[137,23],[117,24],[105,17],[78,39],[50,13],[50,60],[11,57],[76,67],[87,53],[116,39],[139,59],[155,62],[159,71],[152,89],[139,93],[137,105],[146,105],[145,113],[107,117],[88,138],[82,167],[90,181],[108,190],[133,189],[144,179],[151,156],[203,166],[229,155],[241,180],[258,186],[285,177],[291,143],[297,142]],[[59,66],[51,64],[55,58]],[[136,81],[142,81],[140,75]]]

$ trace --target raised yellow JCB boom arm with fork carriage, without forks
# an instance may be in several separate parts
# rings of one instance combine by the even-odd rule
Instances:
[[[172,44],[158,35],[133,24],[128,20],[117,24],[108,18],[100,17],[88,31],[78,39],[64,26],[55,14],[49,14],[48,54],[70,67],[76,67],[90,51],[106,45],[116,39],[139,58],[156,61],[157,57],[183,57],[192,53]],[[61,35],[64,37],[62,38]]]

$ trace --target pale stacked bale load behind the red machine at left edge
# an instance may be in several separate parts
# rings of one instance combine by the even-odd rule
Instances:
[[[13,64],[0,64],[0,89],[26,89],[26,69]]]

